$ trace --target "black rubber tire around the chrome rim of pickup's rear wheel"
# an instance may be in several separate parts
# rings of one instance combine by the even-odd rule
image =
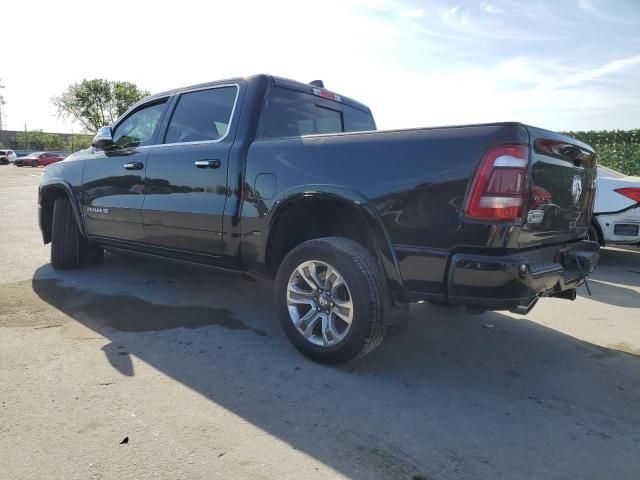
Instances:
[[[307,341],[293,325],[287,308],[289,278],[309,260],[336,268],[351,293],[353,319],[346,337],[334,346]],[[371,253],[353,240],[326,237],[309,240],[287,254],[276,277],[275,305],[280,324],[293,345],[310,359],[325,364],[349,362],[373,351],[384,337],[385,290],[383,275]]]

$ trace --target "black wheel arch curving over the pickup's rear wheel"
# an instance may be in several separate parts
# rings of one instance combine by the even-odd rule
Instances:
[[[296,245],[311,238],[336,234],[334,231],[322,234],[323,230],[319,228],[317,230],[319,235],[309,238],[302,235],[298,237],[298,241],[281,242],[283,232],[287,227],[300,225],[298,223],[301,219],[300,213],[308,205],[314,205],[314,208],[323,205],[330,208],[339,207],[341,213],[347,218],[358,219],[358,225],[366,226],[366,231],[360,232],[360,238],[355,238],[355,240],[363,243],[362,238],[366,238],[364,246],[378,259],[393,291],[401,294],[403,282],[398,259],[380,215],[362,194],[330,185],[307,185],[304,188],[291,189],[284,192],[273,203],[265,218],[267,232],[260,252],[261,260],[269,276],[275,277],[280,262]],[[307,217],[307,222],[310,221],[309,218]],[[348,235],[347,238],[354,239],[351,235]]]

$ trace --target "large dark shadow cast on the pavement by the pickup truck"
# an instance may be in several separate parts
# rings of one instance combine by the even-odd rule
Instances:
[[[122,375],[137,357],[351,478],[640,471],[640,357],[527,320],[415,305],[407,333],[330,368],[280,333],[269,282],[108,255],[32,286]]]

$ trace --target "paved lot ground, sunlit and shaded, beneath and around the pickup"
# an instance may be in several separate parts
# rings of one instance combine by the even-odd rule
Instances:
[[[122,254],[53,271],[39,177],[0,166],[1,479],[640,478],[640,251],[604,250],[591,298],[415,305],[324,367],[269,282]]]

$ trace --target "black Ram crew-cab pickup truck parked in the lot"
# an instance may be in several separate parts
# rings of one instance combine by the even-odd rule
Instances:
[[[54,268],[126,249],[275,279],[292,343],[366,354],[408,303],[527,313],[575,298],[596,156],[517,122],[375,131],[365,105],[269,75],[145,98],[47,167]]]

